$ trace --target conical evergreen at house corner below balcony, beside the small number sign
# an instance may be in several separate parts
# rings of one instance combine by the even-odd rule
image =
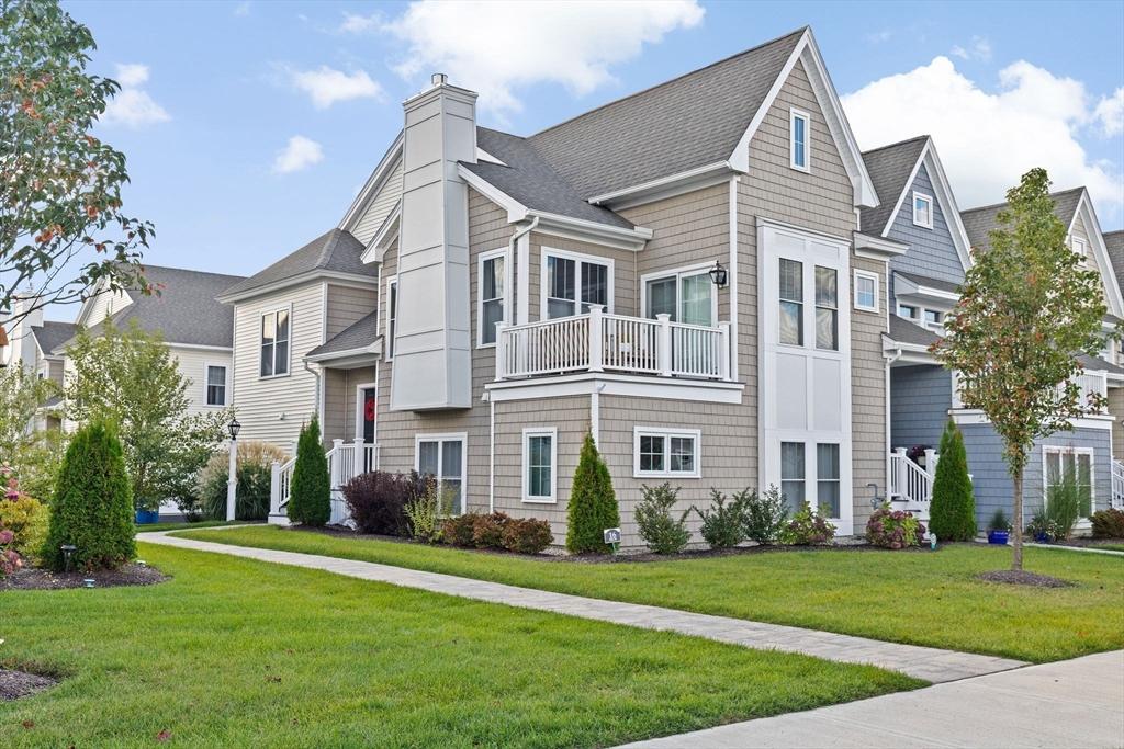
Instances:
[[[587,433],[586,441],[581,445],[566,515],[565,548],[572,554],[605,554],[610,550],[605,542],[604,531],[620,524],[620,512],[617,509],[617,495],[613,491],[613,477],[597,453],[592,433]]]

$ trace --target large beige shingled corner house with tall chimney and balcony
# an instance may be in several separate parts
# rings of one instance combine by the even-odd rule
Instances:
[[[339,225],[219,296],[244,433],[291,449],[319,414],[334,483],[420,469],[561,539],[589,431],[626,546],[662,482],[683,509],[777,485],[862,532],[906,248],[860,227],[879,195],[812,30],[528,137],[475,98],[435,75]]]

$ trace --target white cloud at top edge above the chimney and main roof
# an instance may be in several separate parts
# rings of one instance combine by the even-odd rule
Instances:
[[[382,28],[408,45],[396,66],[400,75],[447,73],[502,117],[522,109],[516,91],[524,86],[553,82],[582,95],[610,83],[613,65],[640,55],[644,44],[697,26],[705,12],[696,0],[418,0]]]

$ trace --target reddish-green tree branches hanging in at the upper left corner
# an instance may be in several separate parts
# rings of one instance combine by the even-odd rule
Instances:
[[[121,211],[125,155],[90,135],[120,86],[89,75],[90,29],[56,0],[0,0],[0,310],[129,287],[153,226]]]

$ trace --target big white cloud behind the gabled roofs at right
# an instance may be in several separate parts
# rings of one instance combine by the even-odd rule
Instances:
[[[1079,139],[1099,111],[1079,81],[1021,61],[1000,71],[991,93],[936,57],[842,99],[863,149],[932,135],[961,208],[1003,200],[1025,172],[1042,166],[1057,190],[1087,186],[1102,221],[1122,214],[1121,164],[1093,159]]]

